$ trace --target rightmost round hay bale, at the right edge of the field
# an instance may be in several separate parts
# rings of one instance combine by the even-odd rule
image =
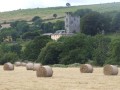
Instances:
[[[115,65],[105,65],[103,68],[104,75],[117,75],[118,67]]]

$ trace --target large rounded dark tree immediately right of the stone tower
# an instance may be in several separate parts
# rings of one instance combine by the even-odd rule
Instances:
[[[81,19],[81,32],[87,35],[96,35],[109,29],[108,20],[98,12],[92,12]]]

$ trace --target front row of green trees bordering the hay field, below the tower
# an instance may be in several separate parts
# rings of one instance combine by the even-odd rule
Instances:
[[[2,43],[0,46],[0,64],[28,60],[42,64],[91,63],[96,66],[120,64],[120,39],[98,34],[82,33],[72,37],[61,37],[57,42],[49,36],[38,36],[22,49],[20,44]]]

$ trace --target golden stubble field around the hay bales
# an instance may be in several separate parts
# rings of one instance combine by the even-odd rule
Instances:
[[[80,73],[79,68],[54,67],[53,72],[53,77],[38,78],[35,71],[25,67],[4,71],[0,66],[0,90],[120,90],[120,73],[105,76],[103,68]]]

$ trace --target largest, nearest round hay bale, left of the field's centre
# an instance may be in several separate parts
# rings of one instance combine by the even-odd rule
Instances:
[[[53,70],[50,66],[41,66],[36,71],[36,75],[37,75],[37,77],[52,77]]]

